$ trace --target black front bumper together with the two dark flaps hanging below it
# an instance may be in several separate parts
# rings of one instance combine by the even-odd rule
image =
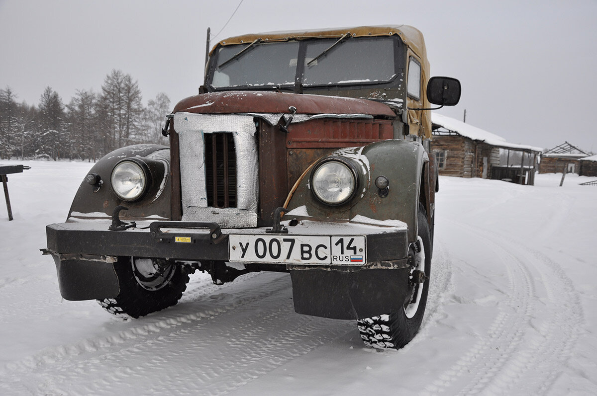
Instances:
[[[117,296],[120,286],[114,265],[123,265],[116,260],[119,256],[229,261],[228,234],[239,232],[221,231],[215,223],[155,221],[148,229],[122,231],[110,231],[109,225],[109,221],[90,221],[46,227],[48,253],[54,256],[63,298],[84,300]],[[164,232],[164,228],[168,231]],[[265,228],[250,230],[251,234],[264,232]],[[406,228],[365,236],[367,263],[364,265],[287,264],[298,313],[364,318],[402,306],[406,287],[399,286],[408,282]]]

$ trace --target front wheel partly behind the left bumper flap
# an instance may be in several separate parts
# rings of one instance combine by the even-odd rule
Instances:
[[[120,292],[97,300],[113,315],[134,318],[176,305],[186,289],[186,268],[165,259],[121,257],[114,265]]]

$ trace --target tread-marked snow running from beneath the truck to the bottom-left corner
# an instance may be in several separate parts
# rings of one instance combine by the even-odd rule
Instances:
[[[150,323],[132,321],[127,330],[7,364],[0,372],[0,389],[136,394],[140,389],[131,383],[143,378],[144,393],[224,394],[355,330],[353,321],[295,314],[288,275],[261,277],[239,280],[228,288],[240,291],[207,302],[201,296],[212,293],[212,287],[200,282],[189,290],[190,302],[143,320]]]

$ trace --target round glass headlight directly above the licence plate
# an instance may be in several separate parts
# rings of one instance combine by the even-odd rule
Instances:
[[[311,178],[313,193],[321,202],[340,205],[355,192],[356,178],[352,169],[338,161],[319,165]]]

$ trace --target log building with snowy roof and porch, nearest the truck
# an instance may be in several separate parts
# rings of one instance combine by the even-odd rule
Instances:
[[[504,138],[456,119],[432,114],[431,150],[440,175],[534,184],[540,148]]]

